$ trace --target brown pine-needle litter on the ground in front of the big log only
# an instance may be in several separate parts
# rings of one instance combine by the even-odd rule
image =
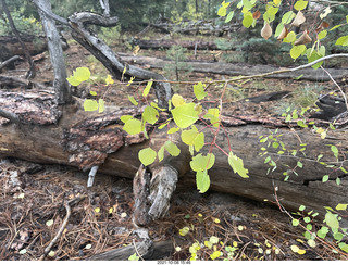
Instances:
[[[88,193],[87,177],[72,168],[3,161],[0,164],[0,260],[39,260],[54,237],[58,239],[46,260],[103,260],[110,256],[108,253],[121,249],[132,255],[136,253],[134,244],[152,249],[152,254],[145,254],[145,249],[138,248],[145,260],[189,260],[192,243],[203,244],[211,236],[222,242],[220,260],[228,254],[225,247],[234,242],[237,247],[233,260],[346,258],[320,242],[314,249],[301,243],[301,240],[306,242],[303,231],[293,227],[277,209],[228,194],[201,195],[197,191],[176,192],[167,215],[149,224],[149,240],[153,242],[149,249],[150,244],[145,245],[149,241],[135,234],[138,228],[132,222],[132,180],[100,176]],[[69,216],[66,202],[83,195],[88,199],[76,203]],[[48,220],[53,224],[47,226]],[[183,237],[179,229],[185,226],[189,232]],[[60,228],[63,231],[58,234]],[[306,254],[291,252],[291,244],[300,245]],[[181,250],[175,251],[175,247]],[[210,260],[211,254],[211,250],[201,245],[198,258]]]

